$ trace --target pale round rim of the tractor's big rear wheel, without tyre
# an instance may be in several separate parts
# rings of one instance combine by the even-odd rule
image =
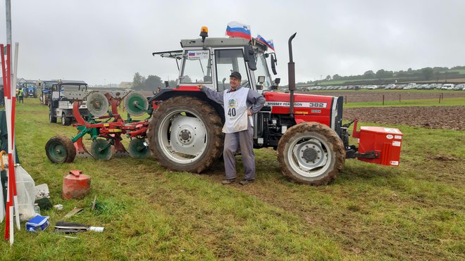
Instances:
[[[177,122],[175,127],[173,122]],[[209,144],[205,125],[202,117],[192,110],[173,110],[161,120],[156,134],[161,151],[175,163],[194,162],[204,155]]]

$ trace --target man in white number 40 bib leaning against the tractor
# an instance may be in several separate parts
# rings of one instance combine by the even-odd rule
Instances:
[[[240,148],[242,163],[244,165],[244,179],[239,183],[246,185],[255,179],[255,155],[254,155],[254,125],[252,115],[258,113],[265,104],[265,98],[258,92],[240,86],[242,76],[239,72],[230,75],[230,89],[217,92],[204,88],[202,84],[197,87],[207,97],[223,106],[225,110],[225,144],[223,159],[225,162],[226,179],[222,184],[231,184],[237,177],[235,153]]]

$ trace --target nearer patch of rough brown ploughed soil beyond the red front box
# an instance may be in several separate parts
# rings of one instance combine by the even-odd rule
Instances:
[[[465,106],[344,108],[343,120],[465,130]]]

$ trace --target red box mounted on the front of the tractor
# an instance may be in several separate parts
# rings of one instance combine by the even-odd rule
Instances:
[[[357,158],[367,163],[376,163],[387,166],[399,166],[400,147],[402,145],[402,132],[399,129],[387,127],[360,127],[359,153],[375,151],[378,158]]]

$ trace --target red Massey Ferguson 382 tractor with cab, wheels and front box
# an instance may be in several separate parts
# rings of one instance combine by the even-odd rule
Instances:
[[[273,81],[268,71],[270,63],[276,74],[277,61],[266,44],[254,38],[209,38],[204,28],[202,38],[182,40],[180,50],[152,53],[175,59],[179,70],[175,89],[162,89],[149,99],[158,106],[153,107],[144,146],[160,165],[200,173],[222,160],[224,110],[197,84],[224,91],[234,71],[242,75],[242,87],[266,98],[265,106],[253,116],[254,148],[274,148],[283,174],[294,181],[328,184],[346,158],[399,165],[402,133],[398,129],[361,127],[357,131],[356,120],[342,124],[342,97],[294,94],[292,39],[296,34],[289,39],[289,91],[283,92],[278,91],[280,79]],[[349,144],[352,123],[358,148]]]

